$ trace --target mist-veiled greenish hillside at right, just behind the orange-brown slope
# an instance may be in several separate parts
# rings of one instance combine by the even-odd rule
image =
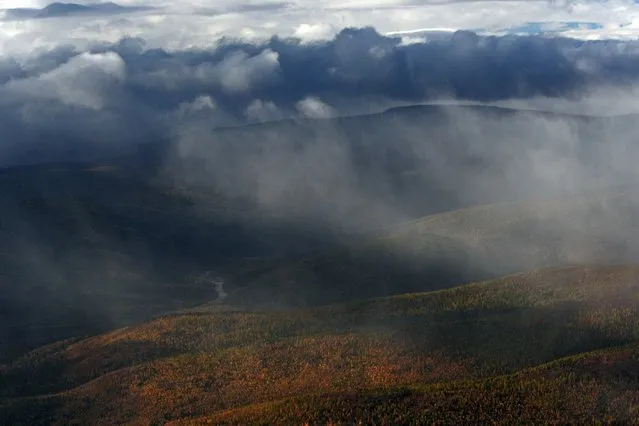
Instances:
[[[639,260],[639,194],[614,188],[426,216],[245,280],[231,301],[304,306]]]

